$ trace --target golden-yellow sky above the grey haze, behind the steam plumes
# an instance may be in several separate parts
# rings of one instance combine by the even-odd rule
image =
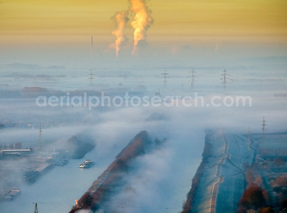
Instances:
[[[287,43],[286,0],[149,0],[149,42]],[[111,17],[127,0],[3,0],[0,43],[81,43],[87,36],[114,42]],[[130,14],[130,18],[133,16]],[[133,40],[128,24],[126,36]]]

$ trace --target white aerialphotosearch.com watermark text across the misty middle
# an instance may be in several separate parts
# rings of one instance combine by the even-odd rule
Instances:
[[[147,95],[143,97],[139,96],[129,96],[129,93],[126,92],[125,96],[113,96],[110,97],[108,95],[105,95],[103,92],[101,93],[101,96],[87,96],[87,93],[84,92],[83,96],[70,96],[70,93],[67,92],[66,95],[57,97],[55,95],[52,95],[50,97],[47,96],[38,96],[36,98],[36,104],[39,107],[45,107],[45,106],[51,106],[51,107],[57,107],[57,106],[72,106],[72,107],[88,107],[89,110],[92,110],[93,107],[138,107],[140,105],[144,107],[148,107],[150,105],[154,107],[159,107],[160,105],[164,105],[166,107],[175,107],[179,105],[183,105],[185,107],[191,107],[191,106],[213,106],[213,107],[219,107],[219,106],[252,106],[252,98],[250,96],[219,96],[214,95],[207,98],[208,101],[205,101],[205,98],[203,96],[200,96],[197,94],[197,92],[194,93],[194,96],[186,95],[184,97],[181,96],[165,96],[165,97],[159,97],[159,96],[152,96],[149,97]],[[247,104],[248,103],[248,104]]]

